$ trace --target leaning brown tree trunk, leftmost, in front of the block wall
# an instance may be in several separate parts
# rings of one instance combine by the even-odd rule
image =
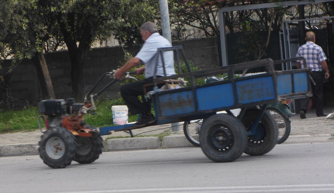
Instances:
[[[47,68],[45,58],[44,58],[44,53],[42,51],[35,52],[35,55],[33,56],[32,60],[37,70],[37,77],[39,80],[39,84],[41,85],[42,98],[43,99],[49,99],[49,98],[55,99],[49,70]]]

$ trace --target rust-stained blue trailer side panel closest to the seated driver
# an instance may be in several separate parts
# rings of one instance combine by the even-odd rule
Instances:
[[[159,94],[159,103],[162,117],[195,112],[191,90]]]

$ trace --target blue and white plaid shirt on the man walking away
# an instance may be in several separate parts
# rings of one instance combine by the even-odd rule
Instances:
[[[306,59],[307,67],[312,71],[321,71],[322,66],[320,62],[327,60],[322,48],[312,41],[308,41],[299,47],[296,57],[300,56]],[[301,63],[301,68],[303,68],[303,61],[300,60],[298,62]]]

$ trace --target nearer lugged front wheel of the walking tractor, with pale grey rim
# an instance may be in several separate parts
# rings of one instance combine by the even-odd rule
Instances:
[[[65,168],[76,154],[75,138],[62,127],[53,127],[44,132],[39,141],[39,157],[50,168]]]

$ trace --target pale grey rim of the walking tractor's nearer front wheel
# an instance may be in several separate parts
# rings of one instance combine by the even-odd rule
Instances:
[[[61,158],[65,153],[65,144],[58,137],[50,138],[45,145],[46,154],[54,160]]]

